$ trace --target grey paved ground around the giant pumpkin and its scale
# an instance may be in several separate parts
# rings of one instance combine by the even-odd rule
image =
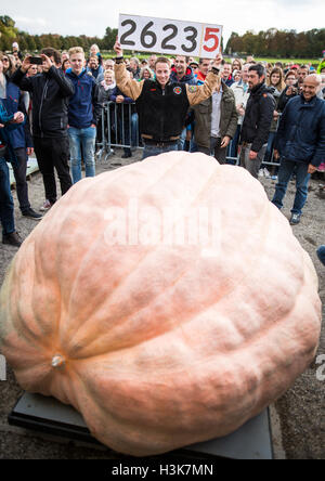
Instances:
[[[140,158],[140,153],[131,159],[122,160],[121,152],[109,158],[108,162],[99,162],[98,173],[115,169]],[[273,195],[275,182],[262,178],[269,198]],[[325,200],[317,196],[320,181],[313,180],[310,186],[309,199],[304,216],[294,233],[302,247],[311,256],[320,278],[320,296],[323,302],[323,318],[325,318],[325,268],[316,258],[316,247],[325,243]],[[34,174],[29,182],[29,197],[35,209],[43,202],[43,186],[40,174]],[[292,203],[294,184],[290,184],[286,197],[284,214],[289,217]],[[16,196],[14,193],[15,205]],[[16,225],[23,237],[27,236],[35,226],[35,221],[24,219],[16,209]],[[0,285],[4,271],[13,258],[15,249],[9,246],[0,247]],[[281,292],[278,292],[281,296]],[[323,323],[322,336],[317,356],[325,354],[325,329]],[[323,362],[324,364],[324,362]],[[272,406],[272,427],[275,457],[289,459],[324,459],[325,458],[325,380],[320,380],[318,374],[325,374],[322,366],[315,362],[300,376],[295,386]],[[10,367],[6,368],[6,381],[0,381],[0,459],[123,459],[122,456],[108,451],[75,445],[44,439],[38,433],[10,427],[6,416],[15,404],[21,389],[17,386]],[[318,377],[318,378],[317,378]],[[160,457],[161,458],[161,457]]]

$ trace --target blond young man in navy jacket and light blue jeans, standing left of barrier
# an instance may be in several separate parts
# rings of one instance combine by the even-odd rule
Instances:
[[[84,52],[81,47],[69,49],[72,69],[66,75],[75,87],[68,106],[68,136],[74,184],[81,180],[81,147],[86,177],[95,176],[96,125],[102,105],[95,79],[84,68]]]

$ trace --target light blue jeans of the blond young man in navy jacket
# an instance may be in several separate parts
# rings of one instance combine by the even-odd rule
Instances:
[[[96,129],[94,127],[88,127],[86,129],[76,129],[69,127],[69,147],[70,147],[70,162],[74,184],[81,180],[81,146],[82,156],[86,166],[86,177],[95,176],[95,141]]]

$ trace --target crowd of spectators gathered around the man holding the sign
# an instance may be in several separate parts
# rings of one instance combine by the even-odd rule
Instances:
[[[30,62],[28,55],[23,58],[17,43],[11,53],[0,54],[0,147],[6,147],[6,155],[10,147],[20,208],[34,220],[41,219],[56,202],[55,170],[64,195],[81,179],[81,160],[86,176],[95,176],[95,153],[104,138],[120,144],[125,158],[132,156],[132,146],[141,145],[136,107],[116,83],[115,58],[103,58],[98,46],[92,46],[88,55],[76,47],[61,53],[43,49],[38,56],[41,65]],[[157,55],[123,62],[131,79],[155,81]],[[204,84],[212,61],[178,55],[170,58],[170,82],[195,88]],[[317,79],[315,96],[324,102],[325,62],[317,73],[322,80]],[[302,95],[310,74],[316,75],[311,65],[262,64],[252,57],[223,60],[220,89],[188,109],[178,148],[204,152],[223,164],[240,164],[257,178],[276,180],[278,122],[289,102]],[[108,102],[114,108],[106,110]],[[30,206],[26,182],[28,156],[34,150],[44,183],[40,213]],[[8,176],[3,162],[0,167],[2,177]],[[325,158],[317,170],[325,171]],[[18,246],[12,222],[8,229],[3,221],[2,206],[6,203],[12,211],[10,190],[1,188],[6,193],[5,202],[1,197],[0,212],[3,242]]]

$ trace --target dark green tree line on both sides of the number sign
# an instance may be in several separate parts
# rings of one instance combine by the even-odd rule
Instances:
[[[96,43],[101,50],[113,50],[117,28],[107,27],[103,38],[80,35],[62,36],[57,34],[29,35],[15,27],[15,21],[8,15],[0,16],[0,51],[12,50],[13,41],[18,42],[22,51],[36,52],[44,47],[68,50],[70,47],[82,47],[84,51]],[[297,32],[296,30],[277,30],[255,34],[251,30],[239,36],[233,31],[224,53],[278,58],[321,57],[325,48],[325,28]]]

